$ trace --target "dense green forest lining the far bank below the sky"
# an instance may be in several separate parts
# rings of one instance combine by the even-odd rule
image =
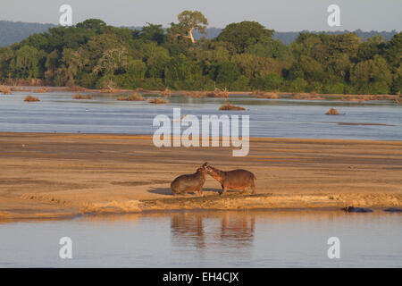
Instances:
[[[355,33],[300,33],[290,45],[255,21],[198,38],[207,20],[180,13],[168,29],[116,28],[90,19],[0,47],[0,80],[85,88],[277,90],[398,94],[402,33],[362,40]]]

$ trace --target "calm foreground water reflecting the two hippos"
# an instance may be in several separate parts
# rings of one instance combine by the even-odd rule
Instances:
[[[402,267],[402,214],[200,212],[0,224],[0,267]],[[71,260],[59,258],[61,237]],[[329,259],[327,240],[340,240]]]

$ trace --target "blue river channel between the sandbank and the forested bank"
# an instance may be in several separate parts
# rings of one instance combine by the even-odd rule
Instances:
[[[95,95],[95,100],[74,100],[73,93],[34,94],[41,101],[25,103],[26,95],[17,92],[0,96],[0,131],[153,134],[155,115],[166,114],[172,119],[172,108],[180,107],[182,115],[249,114],[250,136],[255,137],[402,140],[402,105],[390,102],[357,104],[233,96],[230,102],[245,106],[247,111],[222,112],[218,111],[225,101],[222,98],[173,96],[168,105],[148,105],[117,101],[117,96],[105,94]],[[325,115],[330,107],[342,115]]]

